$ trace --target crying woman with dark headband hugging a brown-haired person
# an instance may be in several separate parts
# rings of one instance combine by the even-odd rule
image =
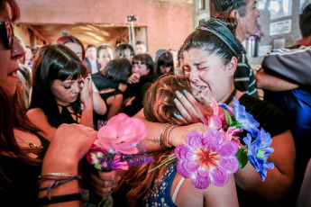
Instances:
[[[286,199],[293,184],[295,145],[282,112],[272,104],[242,94],[234,88],[233,74],[243,49],[233,35],[233,20],[226,21],[201,21],[197,30],[185,40],[182,47],[184,68],[191,82],[192,93],[176,92],[178,98],[175,99],[175,103],[181,114],[177,117],[189,123],[199,122],[205,116],[204,109],[209,103],[209,97],[213,97],[217,103],[226,103],[231,107],[233,97],[239,99],[246,111],[261,124],[261,128],[270,133],[273,140],[270,147],[274,148],[274,152],[270,154],[268,161],[275,164],[264,182],[250,163],[234,174],[239,204],[247,206],[252,202],[254,206],[273,206]],[[144,120],[142,112],[137,117]],[[145,121],[145,124],[149,133],[142,146],[150,151],[160,150],[160,143],[152,140],[160,137],[163,124],[148,121]],[[169,146],[177,147],[185,143],[186,135],[195,126],[197,125],[170,130]]]

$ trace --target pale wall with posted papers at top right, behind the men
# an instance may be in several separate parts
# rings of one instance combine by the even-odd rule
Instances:
[[[251,56],[251,48],[246,45],[249,52],[249,60],[253,67],[257,68],[260,67],[262,58],[270,49],[288,47],[301,39],[298,14],[301,7],[305,4],[310,4],[311,0],[274,0],[272,4],[279,3],[279,13],[271,8],[271,2],[273,1],[259,0],[257,3],[257,8],[261,12],[261,16],[258,19],[261,29],[261,40],[258,41],[257,55],[255,57]],[[288,29],[286,27],[282,29],[281,25],[284,25],[284,21],[290,22]],[[277,23],[279,26],[272,29],[271,26]],[[273,32],[278,28],[279,34]]]

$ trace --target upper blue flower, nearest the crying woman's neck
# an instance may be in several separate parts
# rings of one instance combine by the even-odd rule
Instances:
[[[233,106],[234,119],[241,123],[243,130],[247,130],[249,133],[251,133],[252,137],[257,137],[258,133],[260,132],[258,129],[260,123],[253,119],[251,113],[245,111],[245,106],[241,105],[239,100],[235,97]]]

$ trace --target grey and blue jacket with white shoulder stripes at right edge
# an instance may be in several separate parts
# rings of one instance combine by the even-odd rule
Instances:
[[[292,189],[292,204],[297,194],[311,157],[311,47],[293,46],[276,49],[262,61],[267,74],[294,82],[299,87],[288,91],[264,90],[264,100],[273,103],[284,112],[290,122],[290,130],[296,146],[295,183]]]

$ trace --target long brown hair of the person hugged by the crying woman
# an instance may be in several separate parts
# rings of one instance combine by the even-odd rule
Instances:
[[[187,90],[191,92],[188,78],[178,77],[175,75],[164,75],[151,85],[144,97],[143,112],[148,121],[170,122],[177,125],[185,125],[187,122],[179,121],[174,117],[174,113],[179,113],[175,106],[175,91],[182,92]],[[123,179],[119,184],[118,193],[126,193],[128,204],[130,206],[141,206],[146,198],[151,184],[157,177],[163,175],[165,169],[160,167],[149,173],[155,166],[160,165],[162,158],[174,153],[175,148],[167,151],[158,151],[151,153],[155,162],[143,166],[133,166],[129,170],[123,172]],[[130,189],[128,189],[129,187]],[[124,192],[128,189],[129,192]]]

